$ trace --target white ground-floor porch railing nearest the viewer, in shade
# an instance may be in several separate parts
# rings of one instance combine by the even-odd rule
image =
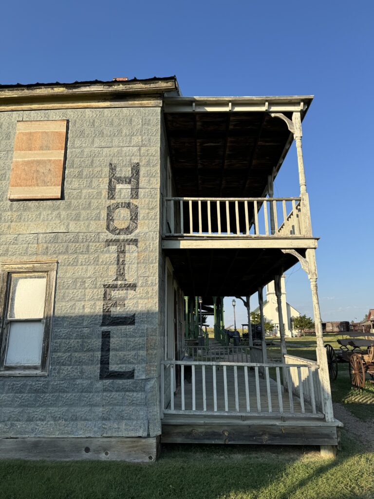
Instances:
[[[305,403],[303,390],[298,397],[292,390],[290,370],[299,373],[303,368],[308,372],[304,381],[310,383],[310,404]],[[162,361],[161,414],[323,418],[316,408],[313,369],[318,366]]]

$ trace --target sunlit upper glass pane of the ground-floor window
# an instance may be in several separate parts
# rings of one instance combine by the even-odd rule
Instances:
[[[42,318],[46,283],[46,274],[13,274],[8,317],[10,319]]]

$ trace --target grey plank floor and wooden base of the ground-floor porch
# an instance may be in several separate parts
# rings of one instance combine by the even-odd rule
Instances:
[[[164,408],[161,442],[337,446],[342,424],[326,422],[318,407],[313,412],[308,401],[284,390],[283,368],[278,369],[277,383],[276,368],[263,367],[261,376],[260,366],[248,366],[246,383],[245,369],[216,365],[214,390],[212,368],[205,366],[204,383],[202,365],[181,366],[185,379],[174,394],[174,407],[169,402]]]

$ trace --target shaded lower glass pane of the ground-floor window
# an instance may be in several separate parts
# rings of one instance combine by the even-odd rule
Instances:
[[[40,365],[43,329],[39,320],[11,322],[5,365]]]

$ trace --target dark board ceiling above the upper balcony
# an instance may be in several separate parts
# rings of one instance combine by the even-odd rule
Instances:
[[[292,112],[282,112],[291,118]],[[179,197],[266,195],[268,175],[273,170],[276,175],[293,138],[267,111],[168,111],[164,116]]]

